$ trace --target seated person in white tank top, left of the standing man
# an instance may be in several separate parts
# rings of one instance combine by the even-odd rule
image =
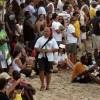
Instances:
[[[14,51],[14,60],[12,62],[12,69],[25,74],[27,77],[31,75],[32,70],[26,65],[27,54],[24,48]]]

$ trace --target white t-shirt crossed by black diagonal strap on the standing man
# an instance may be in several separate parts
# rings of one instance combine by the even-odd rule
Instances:
[[[45,38],[45,36],[42,36],[40,37],[37,41],[36,41],[36,44],[35,44],[35,48],[41,48],[45,43],[46,41],[48,40],[48,38]],[[52,38],[44,47],[43,49],[58,49],[58,45],[57,45],[57,42],[55,41],[54,38]],[[54,54],[53,52],[50,52],[50,53],[47,53],[46,54],[47,57],[48,57],[48,61],[54,61]],[[43,56],[45,56],[45,54],[43,53],[40,53],[38,55],[38,58],[42,58]]]

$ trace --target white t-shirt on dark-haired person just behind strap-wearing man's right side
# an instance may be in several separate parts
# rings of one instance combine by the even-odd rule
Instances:
[[[60,22],[53,21],[52,23],[52,33],[56,41],[62,41],[62,34],[57,33],[56,30],[59,30],[59,27],[62,26]]]

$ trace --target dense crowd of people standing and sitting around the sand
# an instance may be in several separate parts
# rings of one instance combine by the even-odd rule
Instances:
[[[0,9],[1,100],[34,100],[25,77],[39,75],[49,90],[55,67],[72,71],[72,83],[100,84],[100,0],[7,0]]]

